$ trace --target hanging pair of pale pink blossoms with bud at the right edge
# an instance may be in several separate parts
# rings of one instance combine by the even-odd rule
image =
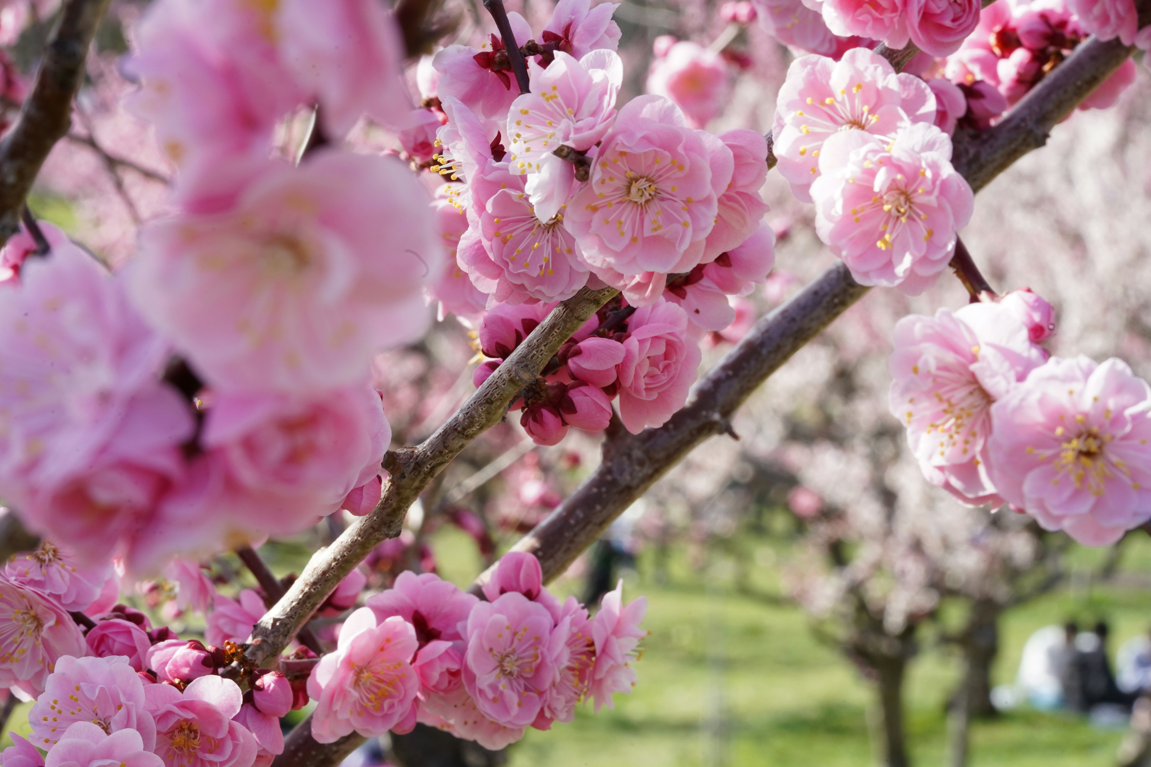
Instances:
[[[1121,360],[1051,356],[1053,309],[1022,290],[894,330],[891,412],[924,476],[1110,545],[1151,520],[1151,386]]]

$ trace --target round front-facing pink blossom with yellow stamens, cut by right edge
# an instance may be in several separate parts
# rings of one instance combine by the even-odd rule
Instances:
[[[1113,544],[1151,519],[1149,409],[1121,360],[1052,358],[991,406],[996,489],[1045,530]]]

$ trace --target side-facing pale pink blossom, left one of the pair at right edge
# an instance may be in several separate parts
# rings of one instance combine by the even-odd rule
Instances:
[[[998,304],[971,304],[895,324],[887,359],[892,414],[924,476],[969,505],[997,504],[991,481],[992,404],[1046,356]]]

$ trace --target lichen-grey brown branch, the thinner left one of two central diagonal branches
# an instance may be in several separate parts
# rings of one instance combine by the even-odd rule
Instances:
[[[563,343],[616,294],[612,287],[585,287],[557,306],[435,434],[418,447],[389,452],[383,463],[389,477],[375,509],[312,557],[284,598],[256,624],[249,660],[260,665],[279,655],[336,584],[381,540],[399,535],[407,507],[443,467],[498,423],[519,390],[535,381]]]

